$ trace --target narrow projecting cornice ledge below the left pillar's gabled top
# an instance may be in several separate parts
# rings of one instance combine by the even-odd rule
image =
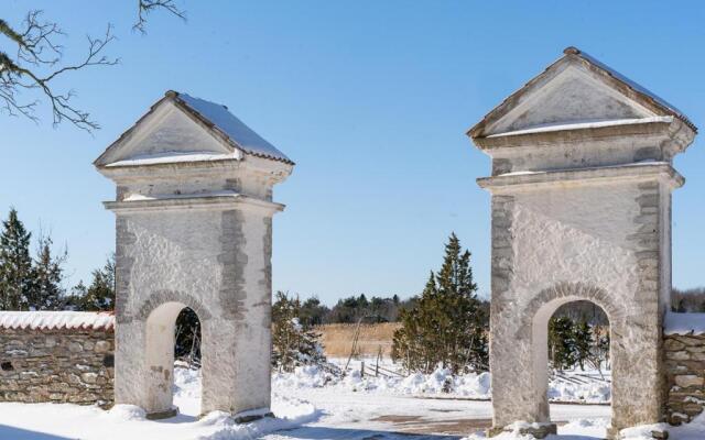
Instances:
[[[139,213],[149,211],[165,210],[228,210],[228,209],[253,209],[265,211],[268,215],[284,210],[284,205],[272,201],[247,197],[239,194],[234,195],[208,195],[193,197],[159,198],[130,201],[104,201],[106,209],[116,213]]]

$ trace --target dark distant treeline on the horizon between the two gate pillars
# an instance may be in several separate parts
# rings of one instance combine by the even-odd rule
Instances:
[[[339,299],[335,306],[328,307],[313,296],[301,302],[300,320],[306,326],[357,323],[360,319],[366,323],[398,322],[401,310],[412,309],[417,300],[417,296],[408,299],[400,299],[399,295],[368,298],[361,294]],[[489,301],[480,300],[480,305],[489,316]]]

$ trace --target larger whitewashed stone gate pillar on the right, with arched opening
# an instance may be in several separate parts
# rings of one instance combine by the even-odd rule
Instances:
[[[587,54],[564,56],[468,134],[492,160],[494,425],[547,422],[546,333],[590,300],[611,330],[612,428],[660,421],[670,307],[673,156],[696,129]]]

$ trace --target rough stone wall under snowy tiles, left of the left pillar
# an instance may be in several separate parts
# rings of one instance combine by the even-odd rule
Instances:
[[[112,330],[0,328],[0,402],[113,402]]]

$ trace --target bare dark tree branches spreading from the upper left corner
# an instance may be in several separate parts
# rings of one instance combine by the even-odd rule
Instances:
[[[0,20],[0,34],[17,45],[14,57],[0,50],[0,110],[10,116],[21,114],[36,122],[34,110],[39,101],[22,102],[20,94],[23,90],[39,89],[52,106],[54,125],[68,121],[87,132],[98,130],[100,127],[90,119],[88,112],[74,107],[72,98],[76,94],[73,90],[56,91],[52,81],[86,67],[118,64],[119,59],[102,54],[105,47],[115,40],[112,26],[108,25],[100,38],[87,36],[88,53],[83,61],[61,65],[64,47],[56,38],[65,34],[56,23],[40,21],[41,14],[42,11],[30,11],[19,32]]]

